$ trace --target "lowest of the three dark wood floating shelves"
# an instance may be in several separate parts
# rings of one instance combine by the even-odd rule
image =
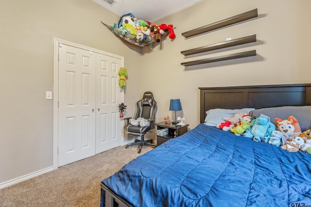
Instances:
[[[229,55],[223,55],[223,56],[217,56],[217,57],[212,57],[212,58],[207,58],[207,59],[202,59],[202,60],[185,62],[185,63],[181,63],[181,65],[191,66],[191,65],[206,64],[206,63],[225,61],[225,60],[231,60],[231,59],[237,59],[237,58],[244,58],[244,57],[256,56],[256,55],[257,55],[256,50],[250,50],[246,52],[239,52],[239,53],[234,53],[234,54],[229,54]]]

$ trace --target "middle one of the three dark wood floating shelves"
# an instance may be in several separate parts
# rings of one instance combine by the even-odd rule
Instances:
[[[197,53],[201,53],[201,52],[207,52],[207,51],[211,51],[211,50],[215,50],[215,49],[221,49],[221,48],[228,48],[228,47],[233,47],[233,46],[237,46],[237,45],[242,45],[242,44],[246,44],[246,43],[251,43],[251,42],[256,42],[256,34],[254,35],[250,35],[250,36],[246,36],[246,37],[241,37],[238,39],[233,39],[233,40],[228,40],[225,42],[219,42],[219,43],[215,43],[212,45],[207,45],[207,46],[203,46],[200,48],[193,48],[193,49],[188,49],[188,50],[184,50],[181,51],[180,53],[183,55],[193,55],[193,54],[197,54]]]

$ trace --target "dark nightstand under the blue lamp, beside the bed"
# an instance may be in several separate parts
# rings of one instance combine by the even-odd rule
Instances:
[[[165,143],[166,141],[178,137],[188,131],[188,126],[189,124],[185,124],[184,126],[176,126],[175,124],[172,124],[172,122],[165,123],[165,122],[159,122],[155,123],[156,130],[159,129],[168,129],[168,134],[167,135],[156,135],[156,145],[160,145],[162,143]]]

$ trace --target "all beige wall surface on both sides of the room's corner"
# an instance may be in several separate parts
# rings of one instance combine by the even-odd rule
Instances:
[[[255,8],[256,19],[188,39],[181,36]],[[141,48],[126,44],[101,24],[117,22],[119,17],[91,0],[1,0],[0,183],[52,166],[53,106],[45,100],[45,92],[53,88],[54,37],[124,57],[129,72],[126,116],[134,114],[144,91],[152,91],[158,103],[156,121],[172,115],[170,99],[180,98],[183,111],[177,115],[193,128],[199,123],[198,87],[311,81],[310,8],[308,0],[204,0],[156,22],[173,24],[176,39],[167,37],[140,54]],[[256,44],[187,58],[180,54],[250,34],[257,34]],[[257,50],[256,57],[180,65],[251,49]]]

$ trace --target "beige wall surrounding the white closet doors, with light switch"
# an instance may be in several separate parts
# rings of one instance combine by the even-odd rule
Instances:
[[[0,184],[52,166],[53,38],[124,57],[124,99],[140,97],[141,49],[124,45],[101,23],[119,16],[91,0],[0,1]],[[132,101],[133,100],[133,101]]]

